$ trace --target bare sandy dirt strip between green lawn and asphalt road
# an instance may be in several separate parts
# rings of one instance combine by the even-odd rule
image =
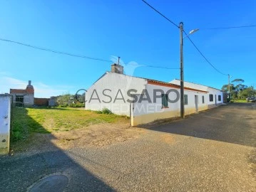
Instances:
[[[85,128],[72,129],[66,132],[34,133],[25,142],[15,143],[12,146],[12,152],[106,146],[136,139],[144,132],[145,129],[130,127],[130,119],[124,119],[115,123],[92,124]]]

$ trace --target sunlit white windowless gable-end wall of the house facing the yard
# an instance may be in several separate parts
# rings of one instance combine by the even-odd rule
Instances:
[[[127,95],[127,91],[134,89],[137,93],[141,93],[145,89],[146,82],[142,78],[107,72],[87,90],[85,108],[86,110],[108,108],[115,114],[130,116],[130,102],[127,100],[131,100],[131,97]]]

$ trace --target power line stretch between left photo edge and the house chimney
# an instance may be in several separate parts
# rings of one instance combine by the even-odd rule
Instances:
[[[86,59],[91,59],[91,60],[101,60],[101,61],[104,61],[104,62],[111,63],[110,60],[104,60],[104,59],[101,59],[101,58],[91,58],[91,57],[87,57],[87,56],[84,56],[84,55],[75,55],[75,54],[72,54],[72,53],[66,53],[66,52],[62,52],[62,51],[58,51],[58,50],[51,50],[51,49],[48,49],[48,48],[40,48],[38,46],[31,46],[31,45],[26,44],[26,43],[20,43],[18,41],[11,41],[11,40],[4,39],[4,38],[0,38],[0,41],[6,41],[6,42],[9,42],[9,43],[16,43],[16,44],[19,44],[21,46],[27,46],[29,48],[35,48],[35,49],[39,49],[39,50],[46,50],[46,51],[49,51],[49,52],[52,52],[52,53],[58,53],[58,54],[62,54],[62,55],[69,55],[69,56],[73,56],[73,57],[76,57],[76,58],[86,58]]]

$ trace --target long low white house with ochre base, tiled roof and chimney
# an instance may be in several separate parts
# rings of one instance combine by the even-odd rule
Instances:
[[[222,91],[184,83],[185,114],[222,104]],[[86,92],[86,110],[107,108],[130,116],[131,125],[180,116],[180,81],[162,82],[123,74],[121,65],[111,65]]]

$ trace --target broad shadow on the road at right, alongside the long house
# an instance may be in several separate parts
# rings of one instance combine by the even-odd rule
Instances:
[[[256,146],[255,103],[230,103],[191,114],[168,124],[149,129],[171,134],[212,139],[220,142]]]

